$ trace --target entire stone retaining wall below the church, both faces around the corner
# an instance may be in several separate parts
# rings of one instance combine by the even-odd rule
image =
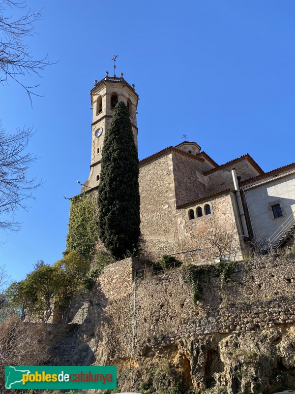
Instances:
[[[181,268],[137,277],[135,356],[148,349],[217,333],[242,334],[295,325],[295,256],[268,256],[236,263],[229,281],[209,276],[197,307]],[[132,264],[108,266],[93,290],[92,307],[80,332],[97,364],[128,359],[133,332]]]

